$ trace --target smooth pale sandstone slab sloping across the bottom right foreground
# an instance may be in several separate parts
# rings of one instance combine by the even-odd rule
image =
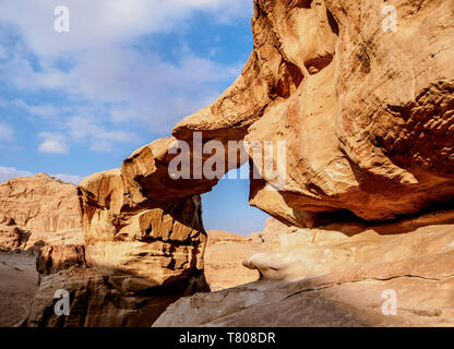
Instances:
[[[244,264],[263,278],[183,298],[154,326],[454,326],[453,212],[300,229]]]

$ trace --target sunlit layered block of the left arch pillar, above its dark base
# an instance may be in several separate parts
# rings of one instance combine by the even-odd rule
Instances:
[[[206,233],[200,197],[156,202],[135,185],[122,170],[81,183],[88,264],[107,275],[142,277],[143,287],[202,274]]]

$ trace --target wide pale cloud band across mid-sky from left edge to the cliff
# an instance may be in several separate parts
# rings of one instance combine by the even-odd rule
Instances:
[[[52,89],[84,104],[110,106],[111,120],[144,123],[156,133],[168,133],[186,116],[205,107],[222,93],[216,84],[234,81],[242,62],[224,65],[184,51],[169,63],[153,53],[141,53],[128,45],[101,43],[73,56],[68,71],[55,68],[52,59],[39,58],[36,71],[24,43],[11,49],[11,59],[0,63],[0,80],[24,92]],[[16,107],[41,117],[63,111],[49,105],[31,106],[19,99]]]

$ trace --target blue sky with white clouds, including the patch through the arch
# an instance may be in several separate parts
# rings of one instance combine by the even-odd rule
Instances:
[[[53,29],[57,5],[70,33]],[[79,182],[169,135],[240,73],[252,0],[0,0],[0,181]],[[249,182],[203,196],[207,229],[247,234],[266,215]]]

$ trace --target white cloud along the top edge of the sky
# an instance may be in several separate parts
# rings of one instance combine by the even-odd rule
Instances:
[[[57,5],[70,9],[71,31],[53,29]],[[32,49],[40,56],[58,56],[124,43],[143,34],[179,27],[196,12],[220,22],[252,15],[252,0],[29,0],[1,1],[0,21],[17,25]]]

